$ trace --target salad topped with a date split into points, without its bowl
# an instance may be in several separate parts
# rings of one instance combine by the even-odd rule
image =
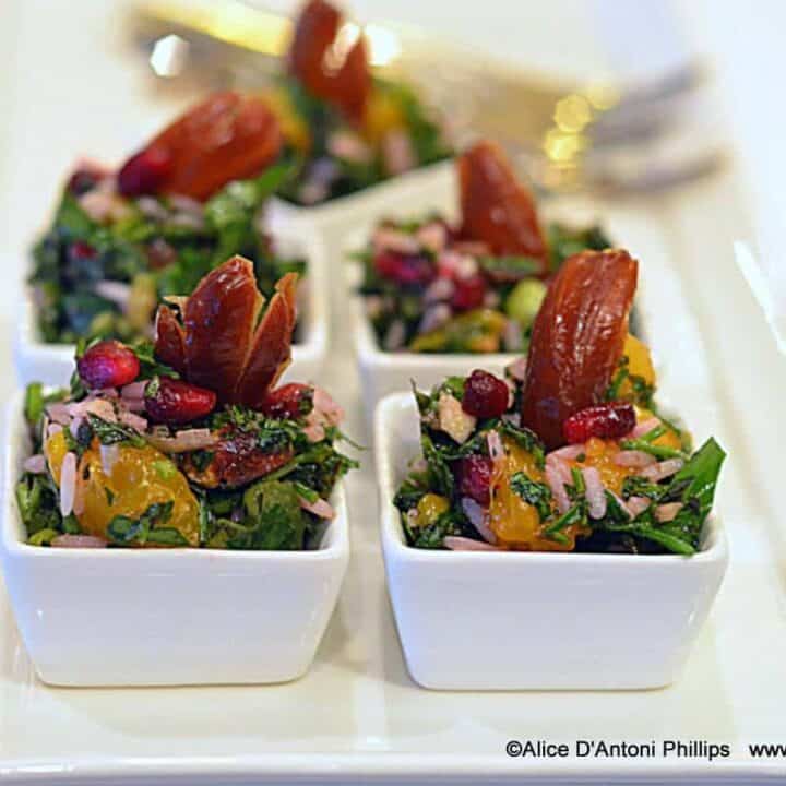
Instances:
[[[343,413],[323,390],[275,386],[296,278],[281,279],[262,312],[253,265],[235,257],[159,308],[155,344],[93,342],[70,390],[31,385],[35,452],[16,486],[28,541],[313,547],[356,464],[335,449]]]

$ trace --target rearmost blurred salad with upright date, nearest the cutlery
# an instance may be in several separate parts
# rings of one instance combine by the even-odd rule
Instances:
[[[279,193],[298,204],[353,193],[452,154],[409,86],[371,75],[364,35],[324,0],[302,9],[288,73],[264,99],[297,163]]]

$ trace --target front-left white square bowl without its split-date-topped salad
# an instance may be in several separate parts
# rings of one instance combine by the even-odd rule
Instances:
[[[286,682],[302,676],[349,561],[343,485],[311,551],[29,546],[14,485],[29,444],[9,405],[0,564],[40,679],[56,686]]]

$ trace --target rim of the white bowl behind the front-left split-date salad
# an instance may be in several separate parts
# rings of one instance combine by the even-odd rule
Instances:
[[[330,301],[326,286],[326,254],[324,245],[314,231],[302,227],[281,226],[271,229],[274,240],[291,243],[302,249],[307,257],[306,275],[303,284],[306,289],[306,305],[303,313],[303,341],[293,344],[293,360],[318,358],[327,348],[327,333],[330,330]],[[33,269],[33,258],[25,254],[25,281],[23,281],[23,297],[21,313],[15,331],[15,344],[22,357],[57,358],[60,362],[73,360],[76,352],[75,344],[60,344],[45,342],[40,337],[36,320],[34,287],[26,282],[26,276]]]

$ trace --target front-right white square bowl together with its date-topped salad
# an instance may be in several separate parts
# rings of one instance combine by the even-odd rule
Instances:
[[[659,409],[636,276],[627,251],[570,257],[507,376],[378,406],[388,586],[420,684],[647,689],[688,658],[728,561],[725,453]]]

